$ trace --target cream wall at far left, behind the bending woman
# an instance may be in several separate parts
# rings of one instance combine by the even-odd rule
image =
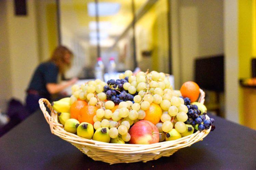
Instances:
[[[27,1],[27,15],[15,16],[14,1],[1,2],[1,107],[10,98],[24,101],[31,75],[39,63],[35,1]]]

